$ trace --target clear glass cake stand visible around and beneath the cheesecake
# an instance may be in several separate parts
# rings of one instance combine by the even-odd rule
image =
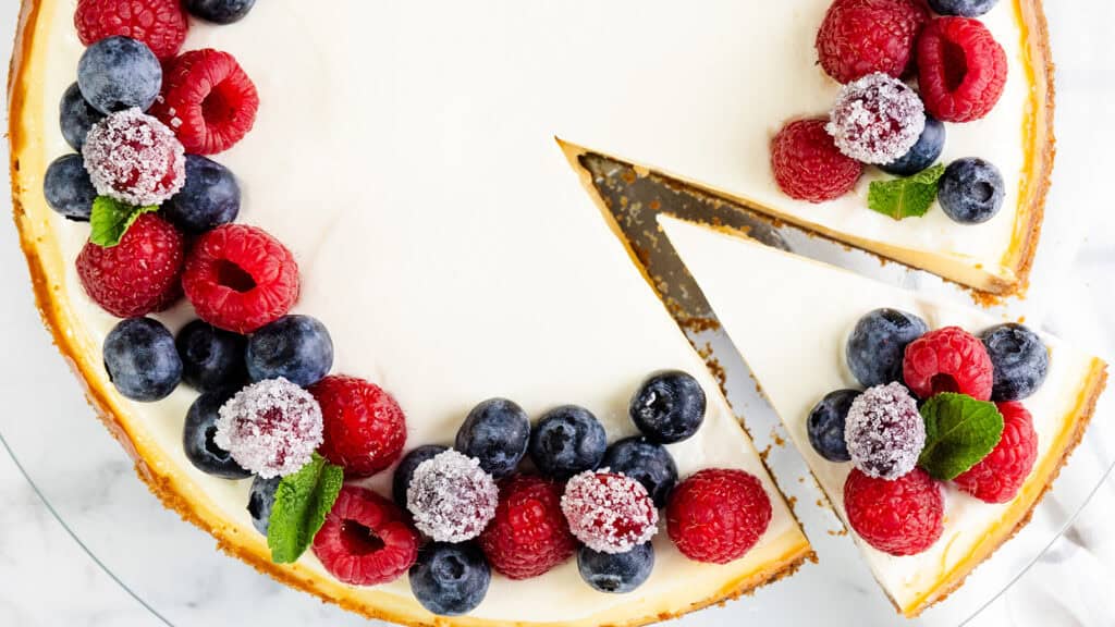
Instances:
[[[1104,119],[1104,100],[1111,94],[1093,77],[1105,76],[1111,67],[1112,55],[1103,42],[1107,38],[1106,25],[1115,21],[1115,4],[1096,0],[1087,3],[1088,10],[1080,10],[1078,4],[1047,6],[1059,64],[1059,157],[1031,296],[1008,303],[1005,312],[1012,317],[1025,315],[1028,324],[1111,358],[1115,356],[1115,336],[1108,332],[1109,324],[1105,326],[1109,311],[1103,310],[1101,302],[1115,288],[1115,277],[1103,264],[1115,250],[1115,220],[1105,214],[1102,202],[1092,202],[1092,196],[1111,197],[1102,177],[1115,165],[1115,158],[1105,149],[1115,143],[1115,132],[1109,125],[1101,128],[1093,124]],[[14,13],[11,7],[2,11],[0,32],[12,31]],[[0,412],[0,443],[90,559],[143,604],[154,619],[168,625],[367,625],[360,617],[324,606],[225,557],[214,550],[212,538],[162,507],[136,479],[124,451],[96,419],[80,386],[51,346],[49,334],[42,330],[11,222],[2,221],[0,232],[0,286],[7,295],[0,303],[0,325],[6,329],[8,355],[0,360],[0,389],[6,402]],[[1102,233],[1108,233],[1106,240],[1101,239]],[[880,266],[874,258],[792,229],[779,229],[773,237],[796,252],[891,283],[970,302],[963,292],[933,277],[896,264]],[[715,348],[728,370],[733,405],[746,416],[757,446],[769,447],[772,471],[796,501],[796,513],[820,560],[750,597],[691,615],[679,624],[736,626],[752,620],[777,625],[961,625],[1009,589],[1041,557],[1115,463],[1115,426],[1109,424],[1115,393],[1109,393],[1030,524],[947,601],[917,620],[902,620],[873,582],[838,521],[815,504],[822,494],[793,448],[779,444],[785,432],[755,393],[739,356],[730,346]]]

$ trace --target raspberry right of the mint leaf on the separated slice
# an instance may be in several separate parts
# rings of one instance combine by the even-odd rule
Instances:
[[[957,488],[988,503],[1006,503],[1018,494],[1038,459],[1034,418],[1021,403],[996,403],[1002,414],[1002,438],[978,464],[952,480]]]

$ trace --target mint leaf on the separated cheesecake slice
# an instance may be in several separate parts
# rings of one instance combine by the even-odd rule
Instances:
[[[975,466],[1002,437],[1002,414],[995,403],[943,393],[921,406],[925,447],[918,465],[933,479],[951,481]]]

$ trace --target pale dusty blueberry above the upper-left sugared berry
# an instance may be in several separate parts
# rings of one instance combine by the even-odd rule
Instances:
[[[151,48],[128,37],[109,37],[86,48],[77,66],[86,102],[103,114],[147,110],[163,86],[163,66]]]

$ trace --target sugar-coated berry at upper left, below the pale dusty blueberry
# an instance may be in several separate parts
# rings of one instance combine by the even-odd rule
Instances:
[[[95,124],[81,156],[97,193],[134,206],[162,204],[186,181],[182,144],[163,123],[137,108]]]

